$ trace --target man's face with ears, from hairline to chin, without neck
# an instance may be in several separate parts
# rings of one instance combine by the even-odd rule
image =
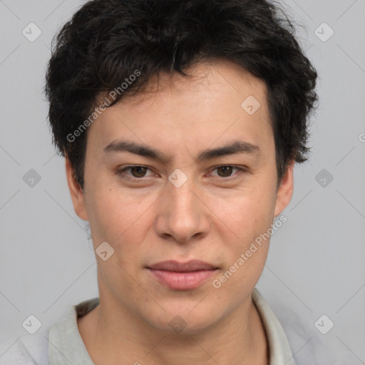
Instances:
[[[237,262],[289,204],[292,165],[277,191],[262,81],[229,61],[189,72],[195,77],[176,74],[172,82],[162,75],[154,94],[107,108],[88,130],[85,194],[71,188],[69,165],[68,183],[77,214],[90,222],[94,249],[108,242],[114,250],[106,261],[96,256],[101,302],[162,330],[171,331],[180,316],[193,333],[248,308],[269,240],[238,269]],[[156,79],[150,90],[155,86]],[[163,160],[106,150],[120,141],[158,150]],[[207,154],[236,142],[257,147]],[[164,282],[148,268],[192,259],[216,269],[202,282],[186,282],[186,273]]]

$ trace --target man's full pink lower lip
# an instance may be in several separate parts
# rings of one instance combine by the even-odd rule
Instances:
[[[155,269],[149,269],[149,271],[158,282],[164,284],[166,287],[187,290],[200,287],[203,282],[207,281],[216,272],[216,269],[193,272],[173,272]]]

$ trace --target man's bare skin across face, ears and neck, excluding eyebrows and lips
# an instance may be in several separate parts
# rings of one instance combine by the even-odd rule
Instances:
[[[78,319],[96,365],[269,364],[251,297],[269,240],[221,287],[212,281],[287,207],[294,163],[277,190],[263,81],[230,61],[196,63],[188,72],[194,77],[161,74],[143,98],[123,99],[91,125],[84,192],[66,157],[73,206],[90,222],[94,249],[104,241],[114,249],[106,261],[96,255],[101,304]],[[261,104],[253,115],[241,107],[249,96]],[[121,139],[161,150],[170,160],[103,152]],[[234,140],[258,145],[260,153],[196,161],[202,151]],[[128,181],[116,173],[127,165],[148,169],[126,170],[133,179]],[[247,172],[227,172],[222,165]],[[168,180],[177,168],[187,176],[180,187]],[[145,268],[167,259],[200,259],[219,269],[196,289],[173,290]],[[179,333],[169,325],[175,316],[186,323]]]

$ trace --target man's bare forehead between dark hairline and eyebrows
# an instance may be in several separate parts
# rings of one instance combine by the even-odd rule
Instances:
[[[143,92],[106,108],[91,125],[91,143],[101,150],[120,138],[181,151],[272,137],[264,81],[225,60],[195,63],[185,73],[160,73]]]

